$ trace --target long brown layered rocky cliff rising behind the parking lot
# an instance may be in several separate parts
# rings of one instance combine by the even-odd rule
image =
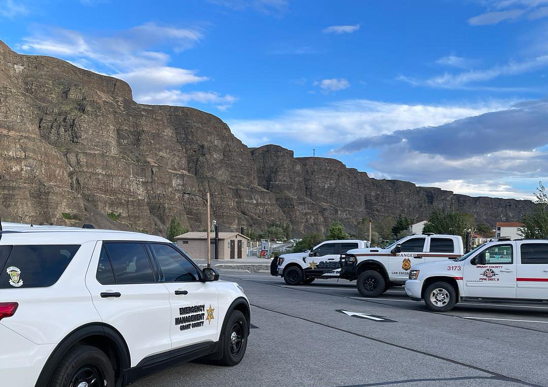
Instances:
[[[0,42],[0,216],[4,220],[164,233],[171,216],[202,229],[202,199],[222,229],[290,222],[296,234],[349,230],[364,216],[435,207],[493,223],[517,220],[529,201],[471,198],[375,180],[334,159],[249,149],[212,114],[141,105],[122,80]]]

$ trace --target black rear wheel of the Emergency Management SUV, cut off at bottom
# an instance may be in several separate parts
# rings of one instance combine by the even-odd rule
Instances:
[[[109,357],[90,345],[78,345],[68,351],[55,369],[50,387],[90,387],[114,385],[114,370]]]

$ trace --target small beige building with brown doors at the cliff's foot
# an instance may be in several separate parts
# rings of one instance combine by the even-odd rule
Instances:
[[[240,233],[219,233],[219,259],[247,258],[249,238]],[[175,236],[175,242],[193,259],[207,259],[207,233],[188,232]],[[211,259],[215,259],[215,234],[211,234]]]

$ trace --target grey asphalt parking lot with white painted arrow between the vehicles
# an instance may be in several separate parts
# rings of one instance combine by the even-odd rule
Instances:
[[[363,298],[345,280],[293,287],[237,271],[221,279],[237,281],[252,304],[244,360],[187,363],[135,387],[548,386],[548,304],[467,302],[438,314],[402,287]]]

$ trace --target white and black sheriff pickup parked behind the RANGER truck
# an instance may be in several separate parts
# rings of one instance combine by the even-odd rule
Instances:
[[[270,274],[282,276],[288,285],[311,284],[316,278],[338,278],[341,254],[369,246],[367,240],[326,240],[310,252],[275,257],[270,264]]]

